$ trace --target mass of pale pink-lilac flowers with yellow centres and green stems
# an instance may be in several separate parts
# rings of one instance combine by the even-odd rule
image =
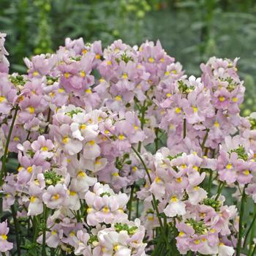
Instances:
[[[160,42],[68,38],[19,75],[5,36],[1,255],[255,255],[256,116],[239,116],[238,59],[195,78]]]

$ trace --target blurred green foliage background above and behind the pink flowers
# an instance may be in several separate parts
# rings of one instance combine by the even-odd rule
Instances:
[[[0,31],[8,34],[12,72],[26,70],[24,56],[53,52],[65,37],[104,46],[160,39],[193,75],[210,56],[239,56],[242,114],[256,111],[255,0],[0,0]]]

